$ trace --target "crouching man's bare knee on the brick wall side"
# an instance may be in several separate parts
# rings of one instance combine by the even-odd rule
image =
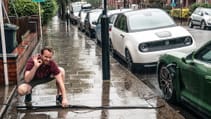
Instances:
[[[29,84],[21,84],[18,86],[18,94],[23,96],[30,93],[31,86]]]

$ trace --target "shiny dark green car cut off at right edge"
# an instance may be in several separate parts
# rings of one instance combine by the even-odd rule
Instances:
[[[211,41],[190,54],[162,55],[157,76],[166,101],[188,102],[194,110],[211,117]]]

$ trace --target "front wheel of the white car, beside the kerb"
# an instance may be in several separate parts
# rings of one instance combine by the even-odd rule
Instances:
[[[134,63],[133,63],[133,59],[130,55],[130,52],[128,50],[125,51],[125,58],[126,58],[126,62],[127,62],[127,67],[128,69],[132,72],[132,73],[135,73],[136,70],[135,70],[135,66],[134,66]]]

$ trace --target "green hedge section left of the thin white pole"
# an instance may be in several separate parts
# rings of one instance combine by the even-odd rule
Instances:
[[[38,15],[38,5],[32,0],[10,0],[9,15],[18,17]]]

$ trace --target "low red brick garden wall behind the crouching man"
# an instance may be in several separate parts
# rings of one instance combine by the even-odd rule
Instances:
[[[20,80],[25,63],[31,56],[31,53],[33,52],[33,49],[36,47],[37,43],[37,33],[29,33],[12,53],[7,54],[8,79],[10,85],[17,84],[18,80]],[[4,85],[4,66],[2,54],[0,54],[0,72],[0,85]]]

